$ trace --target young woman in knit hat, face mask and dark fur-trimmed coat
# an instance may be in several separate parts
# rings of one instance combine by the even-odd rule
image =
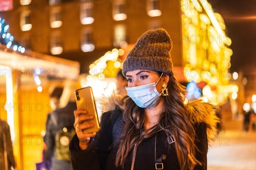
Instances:
[[[82,131],[94,126],[87,123],[93,117],[85,110],[74,112],[73,169],[207,169],[207,141],[218,118],[210,104],[184,104],[185,89],[172,73],[171,48],[164,29],[140,37],[123,64],[128,96],[102,114],[97,135]]]

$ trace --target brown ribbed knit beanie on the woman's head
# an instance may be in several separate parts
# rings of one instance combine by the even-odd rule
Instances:
[[[123,63],[122,73],[153,70],[172,74],[172,40],[163,28],[146,31],[139,38]]]

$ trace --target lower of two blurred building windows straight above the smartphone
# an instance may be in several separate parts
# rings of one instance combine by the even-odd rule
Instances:
[[[93,33],[92,28],[83,28],[81,31],[81,50],[83,52],[91,52],[94,50],[95,46],[93,43]]]

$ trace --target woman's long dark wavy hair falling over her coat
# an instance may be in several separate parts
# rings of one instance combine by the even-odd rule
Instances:
[[[157,72],[161,75],[160,72]],[[175,137],[175,148],[181,170],[192,170],[196,164],[201,164],[195,158],[195,130],[191,118],[186,114],[184,99],[186,89],[173,75],[170,75],[167,84],[168,96],[161,96],[164,99],[163,113],[160,114],[159,123],[148,130],[144,129],[144,109],[138,107],[130,97],[124,99],[124,120],[125,125],[116,154],[116,166],[124,167],[128,154],[135,148],[141,139],[154,136],[157,130],[164,130],[167,135]],[[171,125],[171,126],[170,126]],[[151,133],[148,133],[151,131]]]

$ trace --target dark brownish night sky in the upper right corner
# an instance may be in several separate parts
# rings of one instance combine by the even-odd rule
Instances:
[[[215,12],[221,14],[226,34],[231,38],[231,73],[256,74],[256,0],[213,0]]]

